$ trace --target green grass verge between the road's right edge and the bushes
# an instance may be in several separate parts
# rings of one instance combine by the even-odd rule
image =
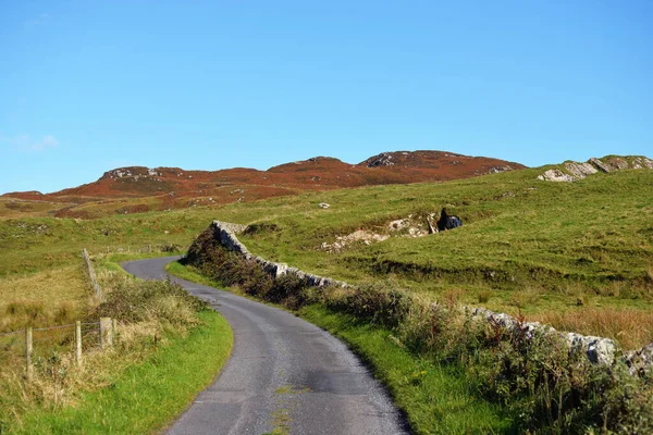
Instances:
[[[167,271],[183,279],[225,288],[196,268],[178,261],[170,263]],[[237,287],[226,288],[260,301]],[[362,323],[353,315],[318,304],[295,312],[345,340],[372,368],[416,434],[514,433],[506,409],[483,400],[463,370],[411,355],[396,338],[393,340],[390,330]]]

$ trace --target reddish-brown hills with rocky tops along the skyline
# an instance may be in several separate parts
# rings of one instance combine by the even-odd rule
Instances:
[[[14,212],[44,212],[63,217],[97,217],[150,210],[252,201],[310,190],[446,182],[520,170],[520,163],[445,151],[383,152],[350,164],[329,157],[258,171],[234,167],[187,171],[181,167],[120,167],[94,183],[52,194],[10,192],[5,199],[40,202],[7,204]],[[45,207],[49,203],[49,207]],[[38,209],[38,210],[37,210]]]

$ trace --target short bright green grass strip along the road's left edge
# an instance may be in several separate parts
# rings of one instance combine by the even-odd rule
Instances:
[[[34,409],[10,434],[155,433],[170,424],[229,358],[233,335],[213,311],[199,313],[201,326],[128,366],[101,389],[82,394],[62,409]]]

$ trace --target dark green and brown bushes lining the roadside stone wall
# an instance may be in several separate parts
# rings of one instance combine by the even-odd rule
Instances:
[[[472,318],[456,290],[432,303],[387,284],[311,287],[297,275],[273,277],[222,247],[211,228],[185,262],[275,303],[320,303],[392,328],[412,353],[466,371],[481,397],[509,410],[519,433],[653,433],[650,380],[629,375],[624,365],[594,365],[560,336],[527,328],[523,318],[514,330]]]

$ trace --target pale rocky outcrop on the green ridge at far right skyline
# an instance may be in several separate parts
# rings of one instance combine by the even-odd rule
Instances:
[[[591,158],[586,163],[565,162],[564,171],[553,169],[539,175],[538,179],[544,182],[576,182],[583,179],[597,172],[609,174],[623,170],[653,170],[653,160],[645,157],[604,157],[603,159]]]

